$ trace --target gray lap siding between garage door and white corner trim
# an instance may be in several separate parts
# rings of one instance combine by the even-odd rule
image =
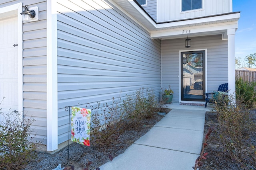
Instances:
[[[19,2],[39,8],[38,21],[23,23],[23,114],[35,119],[33,141],[46,144],[46,0],[2,0],[0,6]]]

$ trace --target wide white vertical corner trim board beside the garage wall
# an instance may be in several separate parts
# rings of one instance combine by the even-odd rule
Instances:
[[[56,0],[47,1],[47,151],[58,149]]]

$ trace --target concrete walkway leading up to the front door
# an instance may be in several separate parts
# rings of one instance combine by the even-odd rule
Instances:
[[[100,170],[192,170],[202,148],[210,107],[169,104],[172,110]]]

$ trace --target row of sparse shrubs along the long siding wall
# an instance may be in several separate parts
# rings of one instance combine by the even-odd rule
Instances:
[[[141,126],[142,119],[152,117],[159,110],[154,90],[137,90],[133,95],[112,99],[112,104],[98,102],[91,117],[92,140],[97,145],[110,145],[126,128]]]

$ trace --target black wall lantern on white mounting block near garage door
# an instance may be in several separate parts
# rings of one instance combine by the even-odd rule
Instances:
[[[24,22],[37,21],[38,20],[38,7],[33,7],[28,10],[28,6],[24,7],[24,11],[20,13]]]

